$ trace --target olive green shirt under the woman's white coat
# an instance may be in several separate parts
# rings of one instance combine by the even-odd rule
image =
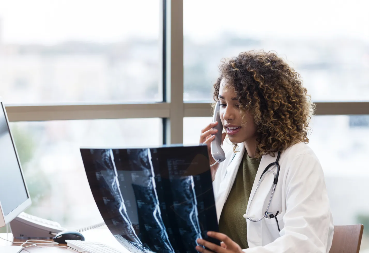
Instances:
[[[245,151],[219,219],[219,231],[238,243],[241,249],[249,247],[244,214],[260,161],[261,158],[250,158]]]

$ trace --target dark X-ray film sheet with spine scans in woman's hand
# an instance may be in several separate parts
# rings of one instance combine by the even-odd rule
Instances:
[[[197,252],[218,231],[206,146],[81,149],[101,215],[131,252]]]

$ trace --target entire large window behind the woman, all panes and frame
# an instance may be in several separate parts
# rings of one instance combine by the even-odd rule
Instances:
[[[0,0],[0,95],[34,203],[27,212],[67,228],[99,222],[79,147],[197,145],[221,58],[263,48],[287,58],[313,100],[341,101],[317,103],[308,145],[335,224],[369,228],[369,102],[358,102],[369,100],[366,1],[211,3]]]

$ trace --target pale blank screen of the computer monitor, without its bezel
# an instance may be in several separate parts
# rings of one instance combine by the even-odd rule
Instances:
[[[0,102],[0,203],[4,216],[28,199],[4,107]]]

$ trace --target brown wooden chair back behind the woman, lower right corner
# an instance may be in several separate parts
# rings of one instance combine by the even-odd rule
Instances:
[[[359,253],[363,230],[362,224],[334,226],[329,253]]]

